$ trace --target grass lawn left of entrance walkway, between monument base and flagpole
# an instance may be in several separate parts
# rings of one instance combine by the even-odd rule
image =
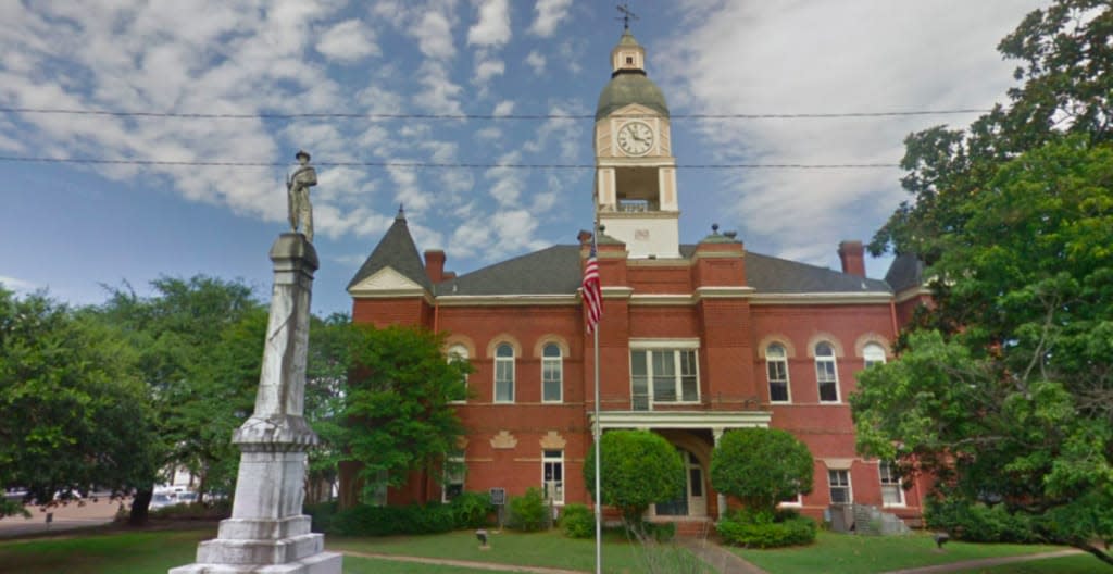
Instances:
[[[641,572],[641,548],[627,542],[621,533],[604,536],[604,572]],[[475,534],[454,532],[435,536],[396,536],[384,538],[345,538],[329,536],[327,545],[333,550],[394,554],[401,556],[423,556],[451,558],[520,566],[548,566],[592,571],[595,564],[593,540],[573,540],[559,531],[540,533],[514,533],[503,531],[490,536],[491,550],[479,550]],[[684,551],[687,553],[687,551]]]

